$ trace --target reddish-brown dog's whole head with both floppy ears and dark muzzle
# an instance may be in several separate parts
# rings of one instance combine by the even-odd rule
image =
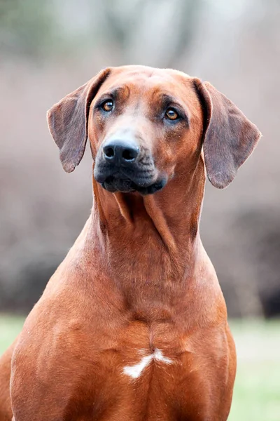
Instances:
[[[48,111],[66,172],[87,136],[94,178],[109,192],[151,194],[191,173],[204,151],[211,183],[226,187],[253,152],[258,128],[210,83],[172,69],[105,69]]]

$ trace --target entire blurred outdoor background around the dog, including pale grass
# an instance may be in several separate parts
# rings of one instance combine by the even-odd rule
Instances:
[[[280,420],[279,19],[280,0],[0,0],[0,353],[92,205],[90,153],[64,173],[46,110],[103,67],[173,67],[263,134],[228,189],[207,182],[201,231],[237,342],[230,420]]]

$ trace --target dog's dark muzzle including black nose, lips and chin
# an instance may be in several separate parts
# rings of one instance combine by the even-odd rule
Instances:
[[[134,140],[110,139],[99,148],[94,178],[109,192],[153,194],[165,187],[151,153]]]

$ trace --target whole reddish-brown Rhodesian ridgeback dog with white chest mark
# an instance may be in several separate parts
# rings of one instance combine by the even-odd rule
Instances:
[[[144,66],[103,70],[48,124],[68,173],[89,139],[94,202],[2,358],[1,421],[227,420],[235,344],[200,212],[206,173],[228,186],[258,128],[210,83]]]

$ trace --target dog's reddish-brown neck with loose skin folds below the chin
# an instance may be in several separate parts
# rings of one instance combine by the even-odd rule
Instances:
[[[112,194],[93,180],[87,239],[94,239],[113,276],[123,282],[139,276],[151,282],[188,276],[200,248],[204,183],[202,158],[193,173],[173,178],[153,195]]]

